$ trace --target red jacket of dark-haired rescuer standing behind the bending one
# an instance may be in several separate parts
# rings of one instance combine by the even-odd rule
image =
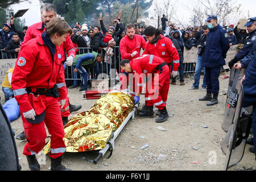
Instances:
[[[166,38],[163,35],[160,35],[158,42],[155,44],[151,44],[147,42],[145,51],[143,55],[156,55],[161,57],[167,64],[174,64],[174,71],[178,71],[180,66],[179,61],[179,53],[172,43],[171,39]]]

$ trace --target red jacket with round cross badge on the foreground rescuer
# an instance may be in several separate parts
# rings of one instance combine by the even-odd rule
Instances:
[[[45,109],[40,96],[27,93],[28,87],[31,87],[32,92],[36,92],[36,88],[50,89],[57,84],[60,100],[67,98],[60,47],[56,46],[55,51],[53,62],[51,52],[44,45],[42,36],[23,44],[11,80],[14,97],[22,112],[34,109],[38,115]]]

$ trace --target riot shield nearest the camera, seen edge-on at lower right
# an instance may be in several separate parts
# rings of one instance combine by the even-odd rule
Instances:
[[[228,133],[221,144],[222,151],[226,154],[224,169],[228,170],[229,167],[234,166],[241,161],[245,151],[246,139],[249,137],[252,117],[246,114],[246,110],[242,113],[243,90],[241,86],[241,78],[244,71],[240,71],[237,83],[237,89],[231,90],[230,99],[233,101],[229,103],[236,105],[236,111],[233,121],[229,127]],[[239,91],[238,91],[239,90]],[[234,106],[232,105],[232,106]]]

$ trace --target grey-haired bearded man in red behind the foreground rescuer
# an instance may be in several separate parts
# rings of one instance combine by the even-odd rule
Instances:
[[[32,24],[28,27],[26,36],[24,37],[24,41],[20,44],[20,50],[22,50],[23,45],[31,39],[36,38],[38,35],[42,35],[43,32],[46,30],[47,24],[57,16],[55,6],[52,3],[45,3],[41,6],[41,18],[42,22]],[[60,45],[61,47],[61,63],[65,61],[65,64],[71,66],[73,63],[73,59],[75,58],[76,52],[71,41],[70,36],[67,36],[66,40]],[[65,51],[67,52],[67,60],[65,60]],[[64,69],[64,66],[61,67]],[[64,71],[63,77],[65,78]],[[67,89],[67,86],[65,86]],[[68,92],[68,89],[67,89]],[[63,119],[63,124],[65,125],[68,122],[68,116],[70,113],[81,109],[81,105],[72,105],[69,103],[69,99],[67,97],[65,106],[61,109],[61,116]],[[16,139],[24,140],[24,132],[19,134]]]

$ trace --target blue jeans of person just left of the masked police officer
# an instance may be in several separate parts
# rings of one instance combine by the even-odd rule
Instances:
[[[199,88],[200,75],[201,75],[202,69],[203,69],[203,60],[202,60],[202,56],[197,56],[197,60],[196,60],[196,72],[195,72],[195,75],[194,75],[195,82],[193,83],[193,86],[194,86],[195,88]],[[204,73],[205,73],[205,68],[204,68]],[[207,88],[205,76],[204,76],[204,79],[203,79],[202,87]]]

